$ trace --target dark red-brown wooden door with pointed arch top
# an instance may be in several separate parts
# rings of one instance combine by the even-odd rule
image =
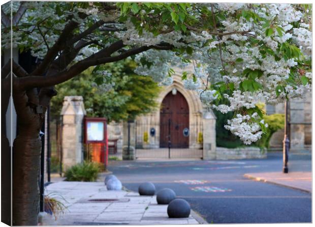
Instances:
[[[160,110],[160,147],[167,148],[169,137],[171,148],[189,146],[189,107],[185,97],[169,92],[162,101]]]

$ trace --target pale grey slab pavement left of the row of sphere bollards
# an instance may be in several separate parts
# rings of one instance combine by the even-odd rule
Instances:
[[[66,202],[60,201],[68,211],[57,220],[44,215],[42,225],[206,223],[195,212],[188,218],[169,218],[167,205],[157,205],[155,196],[140,196],[123,190],[108,191],[103,182],[60,181],[48,185],[45,193],[49,192],[54,192],[57,198],[58,194],[62,195]]]

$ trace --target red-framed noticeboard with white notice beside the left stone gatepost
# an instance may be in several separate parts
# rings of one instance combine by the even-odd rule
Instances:
[[[100,151],[100,157],[93,161],[108,163],[108,140],[106,118],[84,118],[84,143],[94,144]]]

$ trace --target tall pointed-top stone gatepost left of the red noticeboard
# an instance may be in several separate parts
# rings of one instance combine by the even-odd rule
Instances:
[[[62,170],[83,161],[83,118],[86,114],[82,96],[65,96],[62,116]]]

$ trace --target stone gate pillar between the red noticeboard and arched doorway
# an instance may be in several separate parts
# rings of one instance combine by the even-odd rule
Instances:
[[[130,146],[128,151],[128,124],[130,124]],[[123,122],[122,125],[122,160],[134,160],[136,148],[136,121]]]

